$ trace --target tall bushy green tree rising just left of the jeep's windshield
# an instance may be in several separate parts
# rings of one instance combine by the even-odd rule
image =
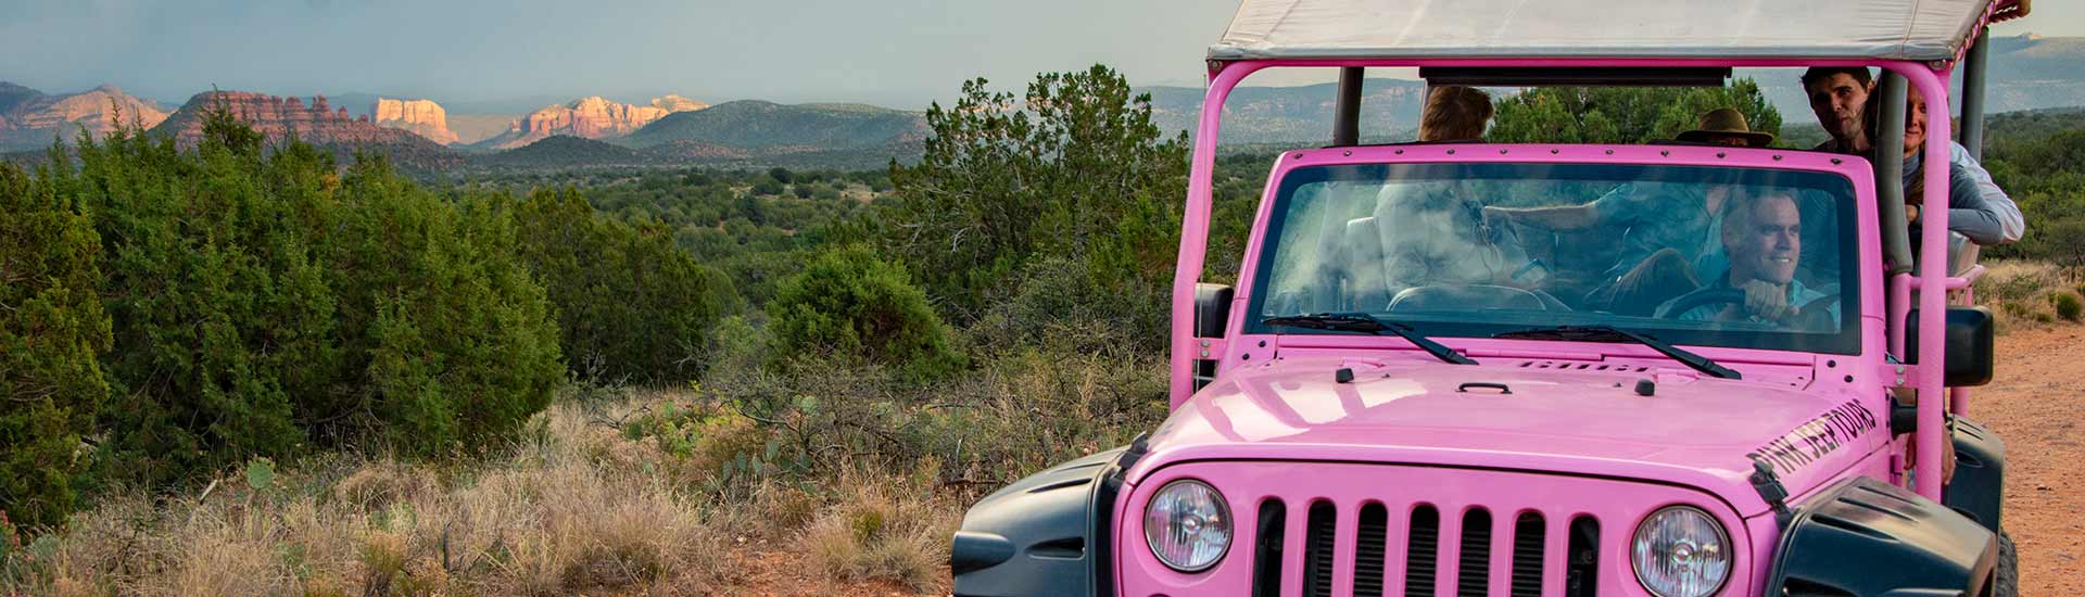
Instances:
[[[1045,73],[1013,96],[963,83],[928,109],[919,165],[890,167],[886,244],[957,317],[1007,296],[1040,257],[1090,265],[1095,284],[1163,292],[1180,236],[1186,136],[1166,138],[1151,96],[1115,71]]]

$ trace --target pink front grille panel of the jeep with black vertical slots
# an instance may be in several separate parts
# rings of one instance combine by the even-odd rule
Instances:
[[[1236,526],[1216,568],[1178,574],[1143,549],[1140,518],[1122,536],[1134,566],[1126,595],[1188,595],[1251,587],[1249,595],[1610,595],[1635,587],[1628,530],[1649,511],[1714,497],[1672,484],[1441,465],[1195,461],[1140,486],[1199,478],[1224,493]],[[1126,507],[1140,511],[1149,488]],[[1749,570],[1749,551],[1735,566]],[[1614,574],[1614,570],[1624,570]],[[1745,593],[1743,576],[1731,591]],[[1234,582],[1234,584],[1232,584]]]

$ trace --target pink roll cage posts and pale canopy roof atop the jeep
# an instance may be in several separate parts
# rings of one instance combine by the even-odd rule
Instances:
[[[1526,23],[1505,23],[1495,29],[1464,27],[1470,15],[1437,17],[1432,21],[1424,0],[1247,0],[1238,17],[1226,31],[1224,42],[1209,48],[1209,86],[1203,96],[1203,111],[1195,136],[1193,163],[1188,171],[1188,196],[1180,230],[1180,255],[1174,267],[1172,286],[1172,332],[1170,332],[1170,401],[1180,407],[1195,390],[1197,361],[1209,355],[1224,355],[1222,334],[1197,334],[1197,282],[1205,265],[1211,180],[1216,169],[1216,140],[1222,129],[1222,109],[1230,92],[1251,73],[1264,69],[1339,69],[1336,111],[1332,119],[1332,146],[1353,146],[1359,140],[1362,71],[1370,67],[1416,67],[1430,83],[1462,86],[1720,86],[1737,67],[1874,67],[1883,69],[1876,92],[1883,104],[1891,106],[1881,115],[1876,154],[1902,154],[1904,144],[1904,102],[1906,90],[1916,88],[1927,98],[1927,138],[1949,140],[1952,96],[1947,79],[1960,65],[1964,69],[1962,94],[1962,144],[1972,157],[1983,148],[1983,81],[1985,81],[1985,40],[1993,15],[2016,10],[2018,0],[1949,0],[1904,2],[1904,15],[1839,15],[1843,19],[1889,19],[1874,27],[1851,27],[1839,35],[1810,23],[1806,31],[1783,33],[1772,40],[1747,40],[1741,35],[1708,35],[1695,42],[1674,38],[1678,31],[1695,31],[1699,23],[1674,21],[1668,27],[1658,23],[1637,23],[1633,29],[1660,31],[1641,40],[1608,38],[1589,42],[1576,33],[1557,33],[1532,40],[1514,38],[1499,42],[1501,31],[1516,27],[1539,27]],[[1491,2],[1516,4],[1516,2]],[[1543,0],[1522,2],[1507,10],[1601,10],[1641,13],[1641,19],[1687,19],[1695,13],[1722,10],[1720,2],[1641,2],[1641,6],[1614,6],[1614,2],[1589,0]],[[1770,0],[1766,4],[1783,10],[1839,10],[1804,8],[1816,2]],[[1872,4],[1872,2],[1864,2]],[[1768,8],[1774,8],[1768,6]],[[1497,10],[1497,6],[1487,6]],[[1451,10],[1441,6],[1439,10]],[[1635,13],[1630,13],[1635,10]],[[1324,15],[1349,15],[1339,21]],[[1774,15],[1774,10],[1756,10]],[[1301,17],[1299,17],[1301,15]],[[1320,21],[1311,21],[1311,17]],[[1368,15],[1370,19],[1357,19]],[[1487,17],[1487,15],[1476,15]],[[1501,15],[1489,15],[1501,17]],[[1512,17],[1512,15],[1503,15]],[[1460,21],[1457,21],[1460,19]],[[1747,23],[1772,23],[1772,17],[1749,15],[1726,21],[1726,27],[1743,31]],[[1349,23],[1355,21],[1355,23]],[[1449,21],[1449,23],[1437,23]],[[1758,25],[1758,23],[1753,23]],[[1841,23],[1843,25],[1843,23]],[[1443,29],[1451,33],[1407,35],[1412,29]],[[1801,27],[1795,27],[1801,29]],[[1384,33],[1389,31],[1389,33]],[[1464,35],[1455,35],[1464,33]],[[1658,38],[1664,35],[1664,38]],[[1407,44],[1409,42],[1409,44]],[[1952,144],[1927,142],[1924,163],[1949,163]],[[1943,380],[1945,363],[1945,301],[1947,292],[1918,292],[1918,321],[1908,321],[1914,309],[1912,290],[1968,290],[1981,269],[1952,276],[1947,267],[1947,198],[1927,194],[1918,230],[1920,250],[1914,259],[1904,211],[1902,161],[1881,159],[1874,163],[1874,190],[1881,205],[1881,253],[1885,257],[1887,301],[1885,330],[1887,353],[1927,355],[1920,363],[1887,363],[1879,372],[1902,388],[1914,388],[1920,397],[1949,395],[1947,405],[1939,399],[1922,399],[1916,407],[1916,449],[1920,453],[1941,453],[1945,438],[1945,409],[1966,411],[1966,390],[1949,388]],[[1947,188],[1945,167],[1922,171],[1927,188]],[[1278,184],[1276,180],[1268,182]],[[1935,198],[1939,196],[1939,198]],[[1257,234],[1257,232],[1255,232]],[[1914,271],[1916,263],[1916,271]],[[1966,292],[1962,292],[1966,296]],[[1243,309],[1232,309],[1236,321]],[[1910,334],[1908,330],[1916,330]],[[1918,459],[1918,478],[1941,478],[1941,463],[1935,457]],[[1939,501],[1941,484],[1918,484],[1918,493]]]

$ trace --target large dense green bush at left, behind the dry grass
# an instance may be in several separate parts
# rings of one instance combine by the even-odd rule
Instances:
[[[561,380],[513,225],[382,159],[346,173],[211,115],[198,148],[117,132],[48,173],[96,217],[104,474],[171,484],[302,445],[407,453],[505,434]]]

